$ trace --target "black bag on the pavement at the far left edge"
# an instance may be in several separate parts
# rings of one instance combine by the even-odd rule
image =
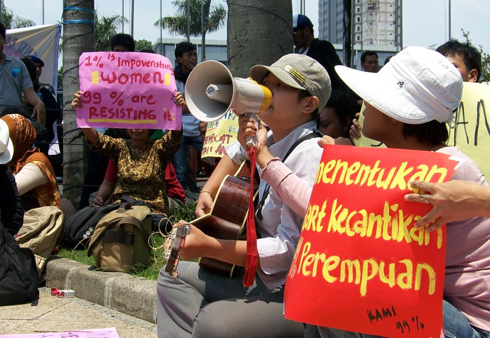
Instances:
[[[20,247],[0,221],[0,305],[30,303],[39,298],[36,260]]]

